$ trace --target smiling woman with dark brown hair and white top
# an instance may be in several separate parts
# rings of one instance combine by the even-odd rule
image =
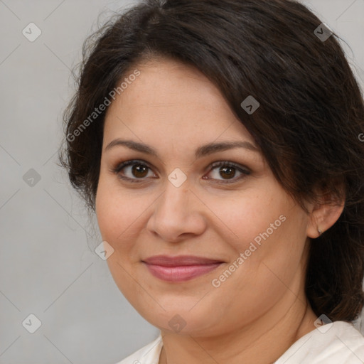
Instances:
[[[149,0],[83,55],[60,161],[161,331],[120,363],[364,363],[364,105],[336,35],[295,1]]]

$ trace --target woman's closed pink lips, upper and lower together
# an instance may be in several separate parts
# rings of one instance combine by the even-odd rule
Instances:
[[[184,282],[216,269],[222,261],[203,257],[158,255],[144,259],[149,272],[167,282]]]

